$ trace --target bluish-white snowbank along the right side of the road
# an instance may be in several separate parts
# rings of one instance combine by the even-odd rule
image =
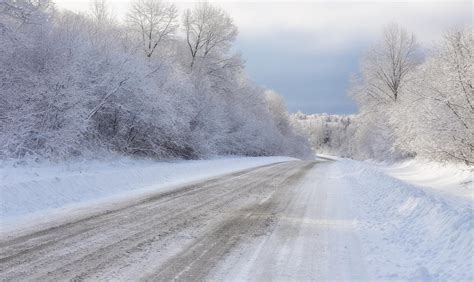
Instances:
[[[371,279],[472,281],[472,199],[413,185],[365,162],[342,160],[336,168],[334,177],[348,187]]]

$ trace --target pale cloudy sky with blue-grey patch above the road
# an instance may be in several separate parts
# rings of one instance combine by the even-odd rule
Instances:
[[[86,11],[89,0],[55,0]],[[213,2],[213,1],[211,1]],[[123,17],[130,0],[109,0]],[[192,6],[175,2],[180,9]],[[250,77],[285,97],[290,111],[355,113],[347,97],[360,56],[397,22],[426,47],[450,27],[472,23],[471,1],[219,1],[239,27],[235,50]]]

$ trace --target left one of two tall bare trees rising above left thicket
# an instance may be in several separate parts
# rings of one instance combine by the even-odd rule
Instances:
[[[127,22],[140,37],[145,55],[151,57],[159,44],[169,39],[178,28],[178,10],[161,0],[135,0]]]

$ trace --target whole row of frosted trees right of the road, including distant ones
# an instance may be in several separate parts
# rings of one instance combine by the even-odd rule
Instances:
[[[361,61],[355,116],[296,114],[317,151],[356,159],[474,164],[473,27],[452,29],[428,51],[392,24]]]

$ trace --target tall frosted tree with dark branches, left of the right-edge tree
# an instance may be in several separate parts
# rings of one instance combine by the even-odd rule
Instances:
[[[393,159],[407,154],[395,148],[390,120],[419,63],[414,35],[396,24],[385,27],[382,39],[364,56],[350,90],[361,113],[354,134],[359,158]]]

